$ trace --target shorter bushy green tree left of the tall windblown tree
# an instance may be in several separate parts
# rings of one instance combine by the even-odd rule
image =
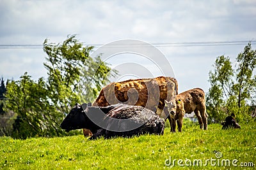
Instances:
[[[38,104],[43,102],[44,83],[42,78],[38,82],[31,80],[31,76],[25,73],[18,81],[8,81],[6,92],[6,106],[17,114],[13,124],[15,138],[26,138],[42,134],[41,122],[44,120],[40,114]]]

